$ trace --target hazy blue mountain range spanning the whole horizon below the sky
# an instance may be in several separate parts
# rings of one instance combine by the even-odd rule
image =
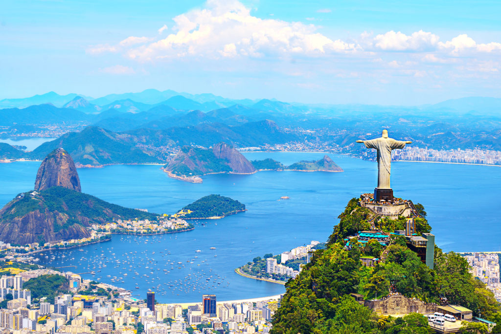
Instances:
[[[323,143],[319,149],[359,155],[363,148],[352,143],[371,138],[383,128],[394,138],[412,140],[419,147],[501,150],[499,98],[468,97],[399,107],[234,100],[150,89],[98,99],[50,92],[5,99],[0,107],[11,107],[0,109],[1,138],[36,136],[55,126],[80,131],[94,125],[120,133],[118,141],[148,152],[184,145],[208,147],[221,141],[238,147],[299,142]],[[0,148],[0,153],[9,150]],[[72,153],[80,162],[80,155]]]

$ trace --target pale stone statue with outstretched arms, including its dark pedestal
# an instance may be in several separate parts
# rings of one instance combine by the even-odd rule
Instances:
[[[374,199],[377,202],[393,201],[393,190],[390,186],[391,150],[404,148],[405,144],[412,142],[388,138],[388,130],[383,130],[382,137],[372,140],[357,140],[357,143],[364,143],[365,147],[377,150],[378,180]]]

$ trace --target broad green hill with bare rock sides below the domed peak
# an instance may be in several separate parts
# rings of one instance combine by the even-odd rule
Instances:
[[[0,210],[0,240],[33,242],[81,239],[87,227],[116,219],[150,219],[158,215],[124,208],[75,190],[52,187],[19,194]]]

